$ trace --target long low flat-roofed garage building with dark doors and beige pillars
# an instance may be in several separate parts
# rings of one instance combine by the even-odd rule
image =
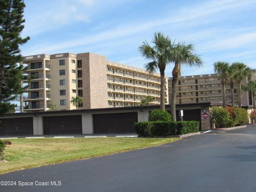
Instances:
[[[183,120],[199,121],[202,130],[210,129],[210,119],[202,120],[203,111],[209,111],[211,103],[178,105],[183,110]],[[71,135],[71,134],[119,134],[135,133],[134,122],[148,121],[150,111],[159,106],[82,109],[66,111],[38,111],[6,114],[0,117],[0,136],[7,135]],[[166,106],[170,110],[170,106]]]

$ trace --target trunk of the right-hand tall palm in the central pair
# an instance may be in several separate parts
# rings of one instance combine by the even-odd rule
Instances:
[[[175,62],[172,70],[172,93],[171,93],[171,116],[172,120],[176,121],[176,85],[179,76],[179,63]]]

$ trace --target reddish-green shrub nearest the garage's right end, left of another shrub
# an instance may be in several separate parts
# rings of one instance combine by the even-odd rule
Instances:
[[[233,125],[229,115],[229,110],[226,108],[213,107],[211,116],[216,128],[231,127]]]

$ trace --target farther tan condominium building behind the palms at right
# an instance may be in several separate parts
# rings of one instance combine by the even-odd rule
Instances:
[[[255,80],[256,70],[252,70],[252,79]],[[171,98],[172,77],[169,81],[169,99]],[[243,84],[247,83],[247,79]],[[235,86],[237,86],[235,84]],[[197,103],[197,102],[222,102],[222,85],[219,74],[181,76],[178,78],[176,88],[176,103]],[[250,92],[242,92],[242,105],[252,105]],[[231,103],[231,91],[229,82],[226,84],[226,101]],[[238,94],[235,93],[235,104],[238,104]],[[170,102],[170,101],[169,101]]]

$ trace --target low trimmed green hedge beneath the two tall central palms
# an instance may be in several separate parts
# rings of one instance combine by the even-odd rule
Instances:
[[[136,133],[139,136],[167,136],[187,134],[199,131],[199,122],[196,121],[155,121],[139,122],[134,124]]]

